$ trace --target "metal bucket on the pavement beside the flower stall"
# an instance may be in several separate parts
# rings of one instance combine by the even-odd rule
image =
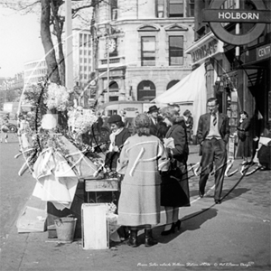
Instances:
[[[74,238],[76,218],[57,218],[54,219],[54,225],[57,231],[58,239],[65,243],[71,243]]]

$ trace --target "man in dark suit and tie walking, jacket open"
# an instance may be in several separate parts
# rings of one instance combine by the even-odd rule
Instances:
[[[209,174],[215,164],[215,192],[214,201],[220,204],[220,196],[223,187],[224,173],[227,162],[226,145],[229,141],[229,117],[219,113],[219,102],[216,98],[207,100],[210,113],[201,115],[197,137],[201,145],[201,176],[199,194],[202,198]]]

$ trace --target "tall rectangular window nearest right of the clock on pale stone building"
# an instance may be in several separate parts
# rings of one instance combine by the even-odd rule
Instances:
[[[141,37],[141,65],[155,66],[155,37]]]

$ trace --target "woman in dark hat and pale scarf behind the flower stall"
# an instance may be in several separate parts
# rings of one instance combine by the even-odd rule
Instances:
[[[126,139],[130,136],[130,132],[119,115],[109,117],[107,122],[110,125],[111,134],[109,135],[110,144],[108,145],[105,165],[110,171],[116,171],[117,158]]]

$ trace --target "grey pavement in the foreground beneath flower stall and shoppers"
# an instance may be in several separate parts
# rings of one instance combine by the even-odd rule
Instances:
[[[199,162],[198,146],[190,152],[188,164]],[[239,164],[236,160],[232,171]],[[221,204],[213,201],[212,176],[202,199],[199,177],[190,171],[189,178],[191,207],[180,209],[180,232],[160,235],[162,211],[161,223],[154,227],[154,247],[114,243],[108,249],[86,250],[82,239],[66,244],[48,238],[47,231],[18,233],[14,223],[2,244],[1,270],[270,270],[270,171],[225,177]],[[33,200],[29,196],[25,204]],[[144,242],[142,232],[139,239]]]

